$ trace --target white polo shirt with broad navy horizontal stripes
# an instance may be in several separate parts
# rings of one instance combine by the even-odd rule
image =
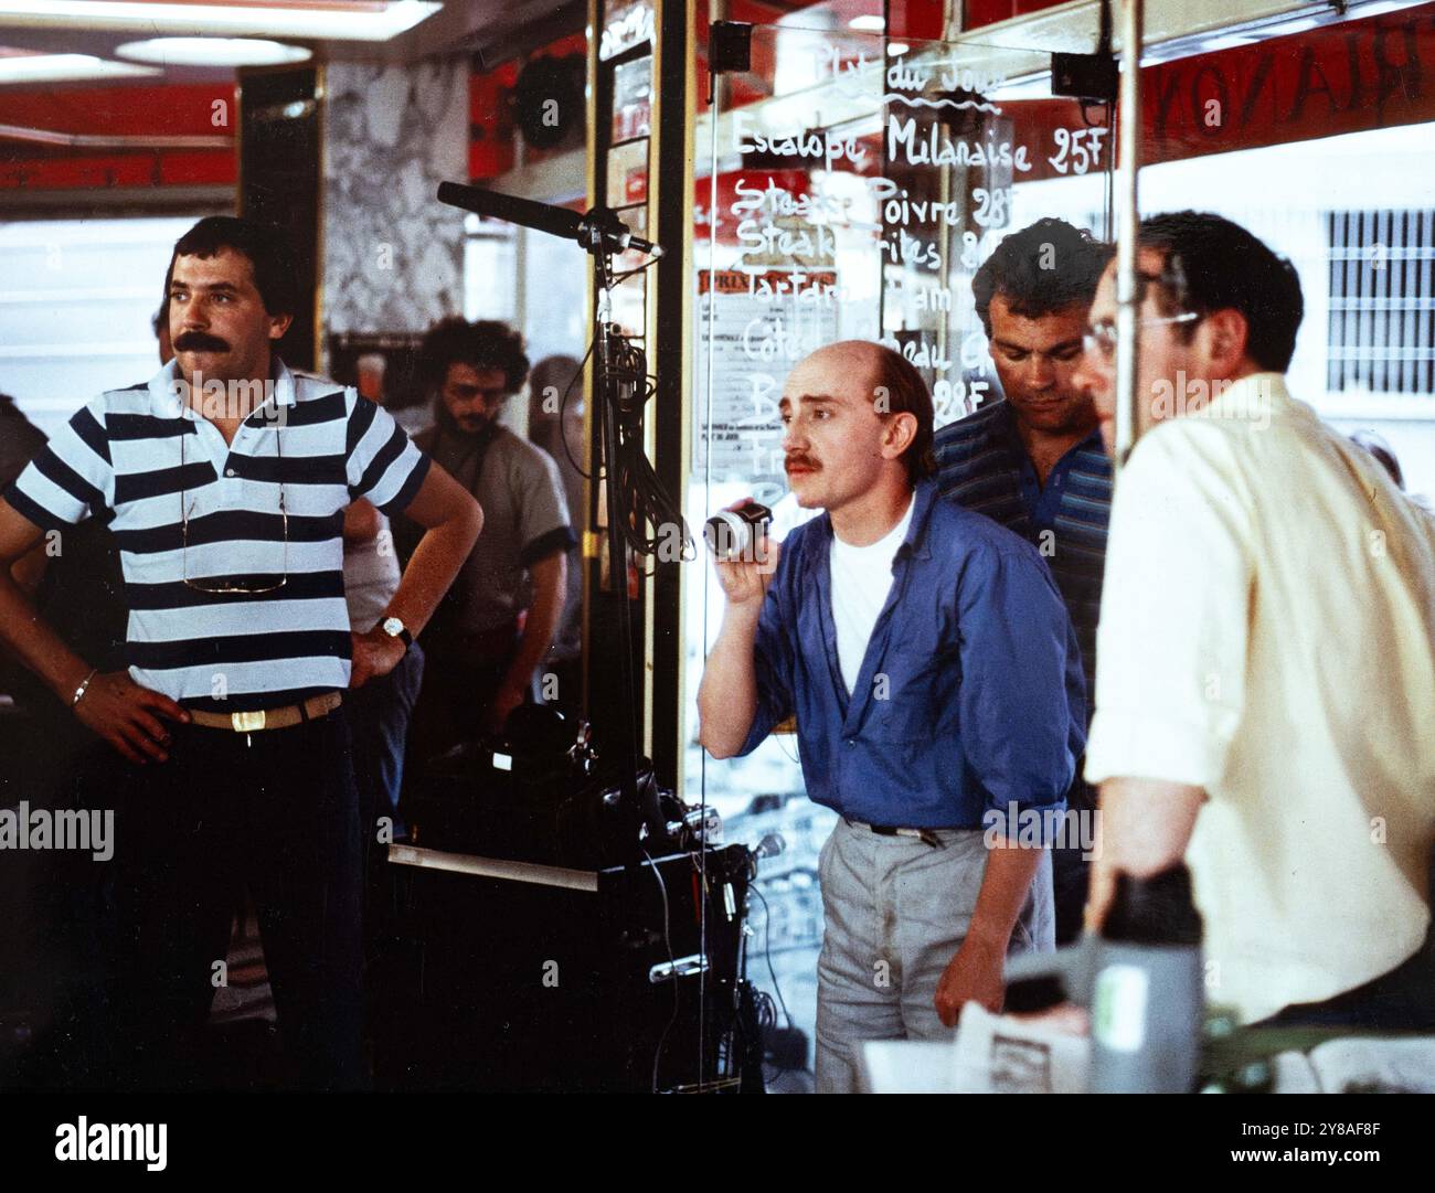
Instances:
[[[90,515],[109,522],[135,683],[225,713],[349,687],[344,506],[367,498],[386,513],[402,510],[423,483],[428,456],[356,390],[291,373],[277,358],[273,397],[227,445],[177,399],[175,377],[171,363],[148,386],[88,403],[6,500],[44,529]],[[287,579],[270,592],[192,586],[240,576],[251,588]]]

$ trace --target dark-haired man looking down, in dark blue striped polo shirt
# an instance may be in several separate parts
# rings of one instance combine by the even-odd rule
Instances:
[[[1088,693],[1096,674],[1111,460],[1091,393],[1072,374],[1109,258],[1108,245],[1052,218],[996,247],[971,290],[1006,400],[941,427],[934,445],[941,492],[1022,535],[1046,559],[1076,628]],[[1079,774],[1068,807],[1089,814],[1095,802]],[[1086,850],[1073,839],[1075,847],[1052,850],[1058,944],[1079,935],[1086,902]]]

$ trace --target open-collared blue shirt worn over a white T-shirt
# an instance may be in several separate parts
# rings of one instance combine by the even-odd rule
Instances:
[[[918,482],[848,697],[831,545],[825,513],[784,542],[755,644],[758,713],[739,753],[795,716],[808,794],[871,824],[977,829],[1012,804],[1060,810],[1085,747],[1085,683],[1036,549]]]

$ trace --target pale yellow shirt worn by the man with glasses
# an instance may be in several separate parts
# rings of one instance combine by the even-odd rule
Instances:
[[[1208,998],[1413,954],[1435,837],[1435,526],[1274,373],[1145,434],[1111,510],[1086,779],[1204,787]]]

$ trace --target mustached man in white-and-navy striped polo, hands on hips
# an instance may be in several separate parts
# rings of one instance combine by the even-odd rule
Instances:
[[[297,310],[278,229],[201,219],[166,278],[175,360],[83,406],[0,500],[0,640],[123,756],[112,1080],[184,1083],[224,984],[248,883],[300,1084],[364,1084],[359,823],[346,688],[385,675],[482,528],[478,503],[390,416],[273,347]],[[343,512],[366,498],[429,528],[386,617],[352,634]],[[10,565],[113,531],[128,668],[96,674]]]

